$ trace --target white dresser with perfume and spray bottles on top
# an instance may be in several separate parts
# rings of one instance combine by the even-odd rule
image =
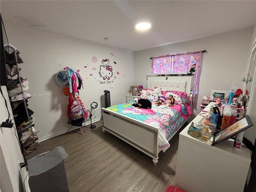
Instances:
[[[212,104],[204,111],[209,111]],[[194,124],[203,118],[200,114],[192,120]],[[243,192],[250,150],[244,145],[234,149],[234,139],[211,146],[212,139],[205,141],[188,135],[189,127],[190,124],[179,134],[175,186],[186,192]]]

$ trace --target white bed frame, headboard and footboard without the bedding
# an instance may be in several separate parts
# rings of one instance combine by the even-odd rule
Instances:
[[[146,74],[147,88],[161,87],[163,91],[176,90],[186,92],[188,96],[193,88],[194,76],[188,74]],[[106,108],[103,111],[102,131],[108,131],[131,146],[153,158],[158,163],[158,127],[118,114]],[[185,123],[185,122],[184,122]],[[182,124],[183,125],[183,124]],[[179,127],[179,129],[182,126]],[[176,131],[177,132],[177,131]],[[168,139],[175,135],[175,133]]]

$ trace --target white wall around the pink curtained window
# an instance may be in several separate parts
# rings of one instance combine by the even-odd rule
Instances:
[[[186,42],[150,48],[135,52],[135,82],[146,86],[146,73],[151,73],[150,57],[206,50],[204,53],[199,93],[194,103],[194,114],[200,112],[203,96],[212,89],[228,90],[231,84],[243,89],[240,81],[247,74],[252,28],[222,33]],[[143,75],[142,75],[143,74]]]

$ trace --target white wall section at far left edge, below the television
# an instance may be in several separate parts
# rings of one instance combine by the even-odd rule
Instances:
[[[1,86],[3,95],[8,95],[6,86]],[[4,97],[1,95],[0,99],[0,123],[8,119],[8,110],[10,112],[10,120],[14,123],[12,108],[8,96],[5,97],[7,101],[7,108],[5,106]],[[26,178],[26,168],[20,169],[20,163],[24,162],[22,153],[20,151],[19,141],[15,125],[12,128],[1,127],[0,130],[0,189],[2,192],[9,191],[24,191],[23,182]],[[25,187],[29,192],[28,177],[26,178]]]

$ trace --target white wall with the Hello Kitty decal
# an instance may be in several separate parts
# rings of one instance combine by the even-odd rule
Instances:
[[[8,41],[18,48],[24,61],[19,65],[20,74],[30,82],[28,92],[51,95],[28,99],[28,108],[34,111],[35,128],[39,131],[38,141],[65,133],[70,128],[67,124],[68,96],[64,96],[62,88],[54,81],[56,73],[63,68],[80,70],[84,84],[80,98],[85,108],[90,112],[92,102],[99,105],[92,121],[100,120],[104,90],[110,91],[113,105],[123,102],[134,84],[134,52],[6,23],[5,28]],[[93,56],[97,57],[97,62],[92,62]],[[99,75],[101,61],[106,58],[114,72],[110,78],[114,88]],[[90,124],[89,118],[87,123]]]

